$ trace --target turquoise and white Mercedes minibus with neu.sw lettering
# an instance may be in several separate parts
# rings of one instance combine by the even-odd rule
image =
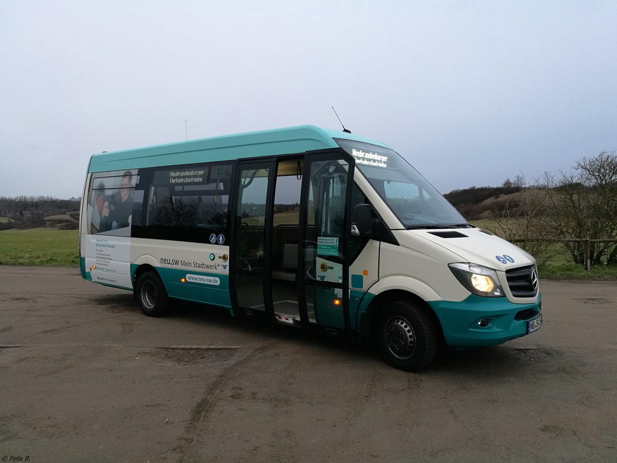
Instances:
[[[470,225],[386,144],[314,126],[94,154],[86,280],[372,338],[404,370],[542,324],[536,261]]]

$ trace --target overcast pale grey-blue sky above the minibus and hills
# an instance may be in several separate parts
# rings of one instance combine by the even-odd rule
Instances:
[[[332,105],[442,193],[617,149],[616,1],[0,0],[0,66],[0,196]]]

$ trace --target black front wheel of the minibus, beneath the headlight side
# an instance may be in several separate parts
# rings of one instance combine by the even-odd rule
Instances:
[[[387,364],[413,372],[433,362],[439,334],[423,308],[412,302],[397,301],[390,302],[379,313],[376,341]]]

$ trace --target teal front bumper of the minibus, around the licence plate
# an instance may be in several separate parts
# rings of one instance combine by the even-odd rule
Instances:
[[[535,298],[534,298],[535,299]],[[470,294],[464,301],[429,301],[441,322],[445,342],[452,347],[494,346],[527,334],[527,323],[542,309],[537,302],[514,304],[507,298]],[[482,327],[486,323],[486,326]]]

